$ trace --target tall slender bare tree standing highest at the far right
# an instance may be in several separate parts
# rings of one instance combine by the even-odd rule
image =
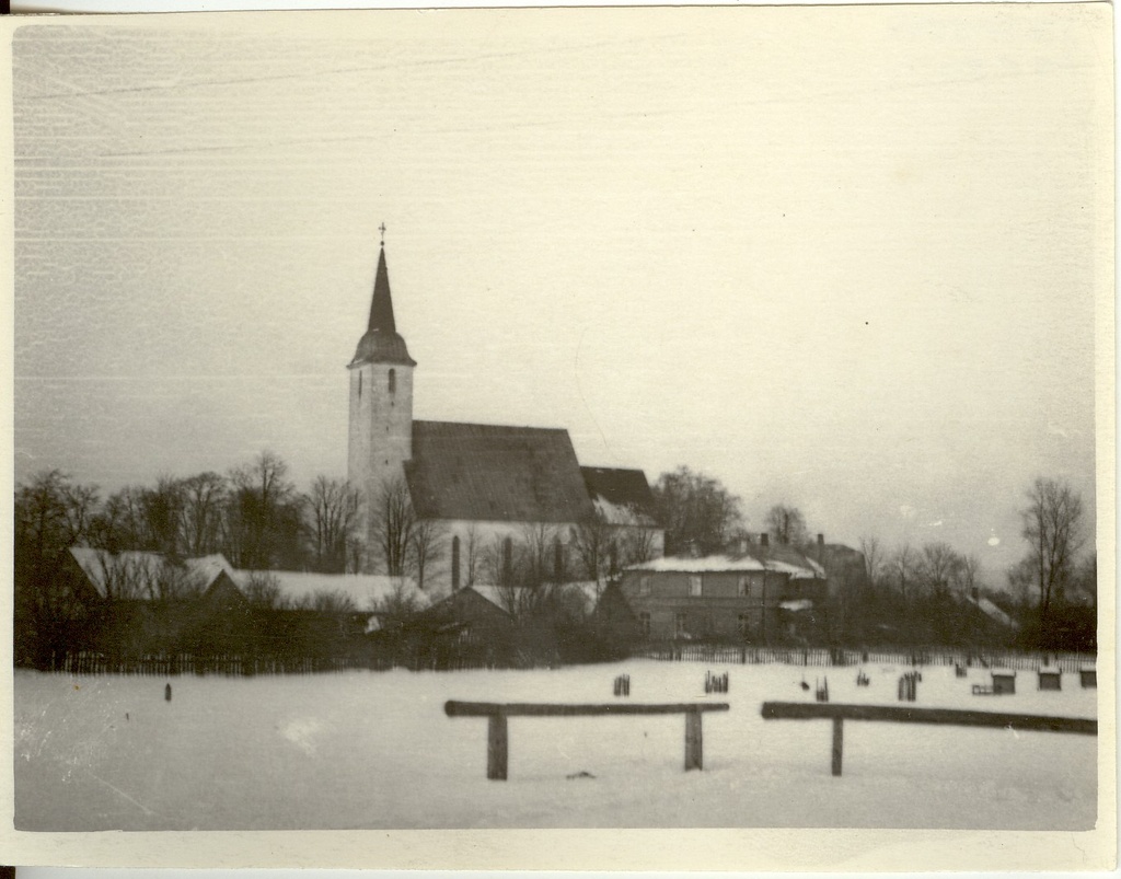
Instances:
[[[1062,601],[1082,548],[1082,498],[1069,483],[1039,478],[1020,511],[1028,558],[1039,590],[1039,619],[1047,619],[1051,603]]]

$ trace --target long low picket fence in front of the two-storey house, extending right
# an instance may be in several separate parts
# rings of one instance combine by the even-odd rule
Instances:
[[[824,647],[753,647],[720,644],[659,644],[647,645],[633,656],[648,659],[692,663],[723,663],[728,665],[799,665],[799,666],[858,666],[961,665],[981,668],[1012,668],[1034,672],[1041,666],[1077,674],[1084,665],[1093,665],[1094,654],[1026,653],[1017,650],[954,649],[949,647],[895,647],[895,648],[824,648]]]

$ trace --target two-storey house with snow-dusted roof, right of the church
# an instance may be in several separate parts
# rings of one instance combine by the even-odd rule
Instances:
[[[734,553],[655,558],[626,570],[621,589],[642,637],[758,642],[821,635],[825,568],[767,537],[741,542]]]

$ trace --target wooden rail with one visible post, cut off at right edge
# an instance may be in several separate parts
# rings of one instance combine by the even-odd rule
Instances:
[[[1096,735],[1097,721],[1083,718],[1055,718],[1043,714],[1010,714],[998,711],[958,709],[914,709],[892,705],[839,705],[817,702],[765,702],[763,720],[832,720],[833,775],[841,775],[846,720],[890,721],[893,723],[936,723],[956,727],[990,727],[1018,732],[1072,732]]]

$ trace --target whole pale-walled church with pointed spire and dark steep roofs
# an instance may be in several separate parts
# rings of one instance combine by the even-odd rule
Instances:
[[[390,491],[407,493],[435,542],[418,577],[425,590],[502,583],[528,545],[568,580],[663,554],[641,470],[581,466],[564,428],[415,420],[416,367],[393,318],[382,240],[370,320],[346,368],[348,479],[362,498],[365,570],[387,568],[379,534]],[[590,545],[603,555],[594,571]]]

